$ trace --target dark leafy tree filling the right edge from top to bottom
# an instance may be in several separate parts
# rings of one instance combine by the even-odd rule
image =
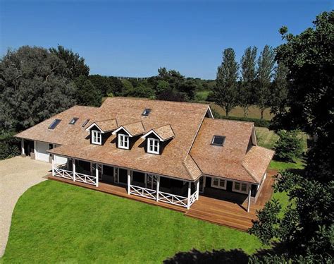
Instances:
[[[285,44],[277,49],[278,63],[287,66],[288,104],[275,119],[276,128],[302,128],[316,135],[307,152],[303,174],[283,173],[276,191],[292,202],[281,212],[277,202],[259,212],[251,229],[261,241],[283,244],[288,258],[330,263],[334,255],[334,12],[317,16],[314,28],[299,35],[280,30]],[[280,216],[283,215],[283,216]],[[268,260],[268,259],[267,259]]]

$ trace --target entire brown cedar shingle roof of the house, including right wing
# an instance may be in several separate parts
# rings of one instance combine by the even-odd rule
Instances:
[[[142,116],[144,109],[149,116]],[[273,152],[252,146],[252,123],[204,118],[209,106],[184,102],[166,102],[124,97],[107,98],[101,107],[72,107],[40,124],[18,133],[16,137],[61,145],[50,153],[82,160],[126,167],[141,172],[161,174],[194,181],[203,174],[259,183]],[[69,125],[73,117],[74,125]],[[48,129],[54,119],[61,119],[55,129]],[[104,145],[92,145],[82,124],[96,121],[108,131],[123,126],[134,136],[149,131],[159,134],[167,144],[161,155],[146,153],[139,138],[131,150],[116,148],[115,135]],[[225,136],[223,147],[211,145],[214,135]],[[263,175],[263,174],[262,174]]]

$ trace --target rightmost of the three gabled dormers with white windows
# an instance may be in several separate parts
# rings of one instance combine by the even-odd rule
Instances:
[[[146,141],[146,152],[161,155],[163,148],[169,140],[175,137],[171,125],[151,129],[142,138]]]

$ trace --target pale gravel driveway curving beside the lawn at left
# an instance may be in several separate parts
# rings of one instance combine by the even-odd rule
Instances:
[[[0,258],[4,255],[18,198],[31,186],[45,181],[50,169],[51,164],[30,157],[0,160]]]

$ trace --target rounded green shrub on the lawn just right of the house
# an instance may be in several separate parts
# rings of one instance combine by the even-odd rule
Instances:
[[[275,155],[278,160],[293,162],[302,157],[303,145],[299,131],[278,131],[280,138],[275,145]]]

